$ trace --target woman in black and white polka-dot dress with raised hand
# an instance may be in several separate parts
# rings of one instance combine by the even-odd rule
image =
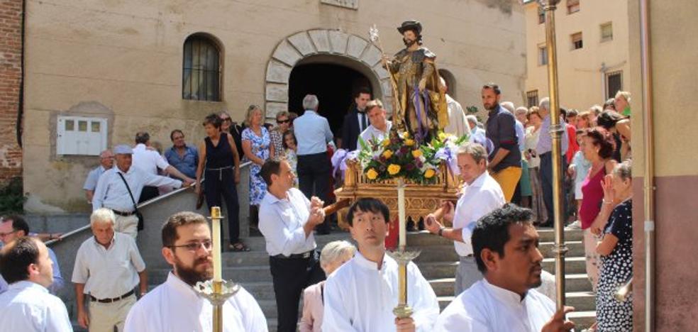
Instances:
[[[633,275],[633,183],[631,164],[622,162],[603,181],[602,212],[610,212],[597,253],[603,262],[597,287],[597,331],[633,331],[632,294],[615,294]],[[614,206],[611,208],[610,206]]]

